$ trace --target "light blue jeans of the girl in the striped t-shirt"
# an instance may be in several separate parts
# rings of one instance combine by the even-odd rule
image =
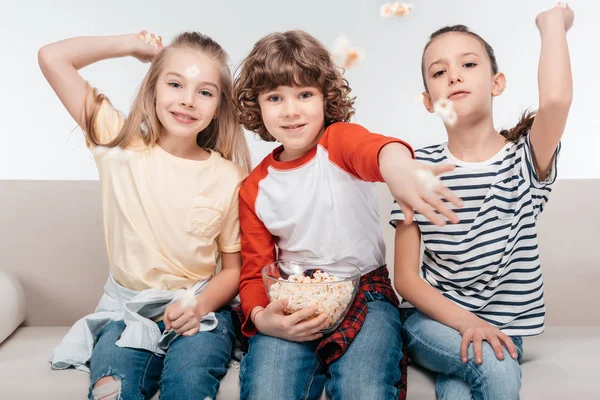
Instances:
[[[460,358],[460,333],[415,309],[402,312],[402,333],[413,362],[437,373],[436,397],[443,400],[514,400],[521,389],[523,341],[512,337],[518,359],[504,348],[504,360],[498,360],[488,342],[483,342],[483,363],[475,363],[473,343],[468,362]],[[410,386],[410,385],[409,385]]]

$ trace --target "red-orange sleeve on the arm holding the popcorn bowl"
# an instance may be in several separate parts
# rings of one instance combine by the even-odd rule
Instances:
[[[264,171],[264,174],[261,171]],[[259,165],[244,181],[240,189],[242,271],[240,273],[239,289],[242,311],[245,316],[242,333],[248,337],[257,332],[250,319],[250,313],[254,307],[266,307],[269,304],[261,269],[275,261],[275,240],[271,232],[256,215],[255,209],[258,183],[266,176],[266,172],[266,166]]]

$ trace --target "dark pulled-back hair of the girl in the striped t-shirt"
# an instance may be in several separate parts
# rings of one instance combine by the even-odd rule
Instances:
[[[427,88],[427,82],[425,80],[425,52],[427,51],[427,48],[429,47],[429,45],[431,45],[431,43],[435,40],[435,38],[437,38],[445,33],[449,33],[449,32],[463,33],[466,35],[470,35],[470,36],[474,37],[475,39],[479,40],[479,42],[485,48],[485,52],[487,53],[487,56],[490,59],[490,63],[492,64],[492,74],[495,75],[498,73],[499,70],[498,70],[498,62],[496,61],[496,55],[494,54],[494,49],[492,48],[492,46],[490,46],[490,44],[488,42],[486,42],[481,36],[479,36],[475,32],[471,32],[469,30],[469,28],[467,28],[465,25],[445,26],[445,27],[440,28],[437,31],[433,32],[431,34],[431,36],[429,36],[429,41],[427,42],[427,44],[425,45],[425,48],[423,49],[423,55],[421,56],[421,76],[423,77],[423,85],[425,86],[425,90],[427,90],[427,91],[429,90]],[[519,120],[519,122],[517,123],[517,125],[514,128],[503,129],[500,131],[500,134],[502,136],[504,136],[506,138],[506,140],[509,140],[511,142],[516,142],[522,136],[526,135],[527,132],[529,132],[531,130],[531,126],[533,125],[534,118],[535,118],[535,111],[525,110],[525,112],[523,112],[523,115],[521,116],[521,119]]]

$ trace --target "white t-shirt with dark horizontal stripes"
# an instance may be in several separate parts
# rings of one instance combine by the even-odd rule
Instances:
[[[484,162],[463,162],[446,144],[417,150],[426,164],[457,168],[441,180],[464,201],[454,209],[458,224],[433,225],[416,213],[425,244],[421,277],[448,299],[510,336],[544,330],[544,287],[536,219],[556,179],[554,157],[548,178],[535,171],[529,135],[507,143]],[[404,220],[396,202],[390,224]],[[408,303],[404,307],[412,307]]]

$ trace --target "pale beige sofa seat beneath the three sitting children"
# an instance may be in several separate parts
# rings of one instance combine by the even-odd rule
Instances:
[[[68,327],[22,327],[0,344],[0,398],[86,398],[87,373],[74,369],[54,371],[48,362],[52,349],[67,330]],[[595,382],[600,327],[550,326],[544,334],[526,338],[524,348],[522,399],[600,399],[600,386]],[[238,374],[239,368],[229,369],[221,381],[218,400],[239,398]],[[433,375],[410,366],[408,400],[430,399],[435,399]]]

